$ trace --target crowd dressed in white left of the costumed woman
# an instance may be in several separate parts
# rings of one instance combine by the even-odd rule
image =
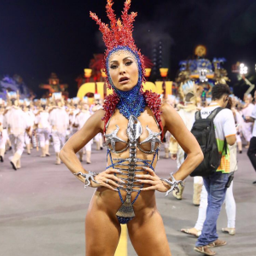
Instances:
[[[89,104],[88,98],[63,99],[61,93],[54,93],[49,99],[30,101],[20,99],[18,92],[8,92],[8,99],[0,99],[0,162],[4,154],[12,150],[9,157],[11,167],[20,169],[20,159],[23,151],[31,154],[32,148],[41,151],[41,157],[49,156],[49,145],[55,152],[55,164],[60,165],[59,153],[69,137],[82,128],[90,116],[101,107],[97,98]],[[91,163],[91,145],[96,143],[96,149],[102,149],[102,134],[79,150],[79,160]]]

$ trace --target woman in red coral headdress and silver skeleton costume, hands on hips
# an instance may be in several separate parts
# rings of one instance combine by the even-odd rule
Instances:
[[[111,27],[90,13],[100,26],[107,46],[104,59],[108,88],[113,94],[83,128],[61,149],[61,160],[85,187],[96,188],[85,218],[86,255],[113,255],[118,246],[120,224],[127,224],[139,256],[171,255],[154,191],[168,195],[201,163],[201,148],[183,125],[177,112],[161,105],[158,94],[143,92],[143,56],[132,38],[136,13],[128,14],[125,1],[122,21],[116,20],[108,0]],[[154,172],[161,140],[170,131],[188,154],[179,170],[161,179]],[[76,153],[102,132],[108,147],[105,171],[85,171]],[[157,230],[157,232],[155,232]]]

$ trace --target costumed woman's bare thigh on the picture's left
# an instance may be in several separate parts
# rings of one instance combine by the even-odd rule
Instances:
[[[113,256],[119,243],[121,228],[117,219],[90,203],[85,218],[86,256]]]

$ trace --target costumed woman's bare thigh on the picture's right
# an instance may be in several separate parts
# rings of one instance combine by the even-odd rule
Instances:
[[[160,213],[155,209],[127,224],[138,256],[172,256]]]

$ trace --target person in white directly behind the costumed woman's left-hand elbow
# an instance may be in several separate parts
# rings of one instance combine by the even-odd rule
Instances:
[[[63,147],[66,142],[66,132],[69,125],[69,119],[65,108],[63,108],[64,103],[61,92],[55,92],[53,94],[53,99],[55,107],[49,112],[49,125],[52,127],[52,138],[56,155],[55,164],[61,165],[59,153],[61,151],[61,147]]]

